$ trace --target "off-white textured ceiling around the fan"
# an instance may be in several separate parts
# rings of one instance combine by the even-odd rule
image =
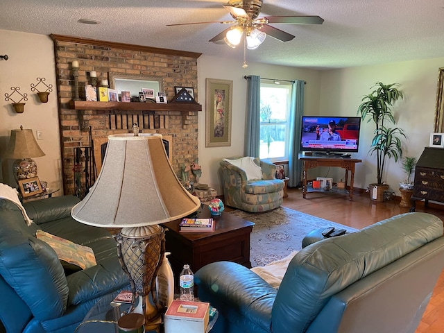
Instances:
[[[1,0],[0,29],[161,47],[239,59],[244,48],[208,42],[232,20],[221,0]],[[264,0],[264,15],[319,15],[322,25],[279,25],[296,37],[267,37],[248,62],[314,69],[444,56],[444,0]],[[261,15],[259,15],[261,16]],[[92,19],[97,25],[78,23]],[[8,54],[1,49],[0,53]]]

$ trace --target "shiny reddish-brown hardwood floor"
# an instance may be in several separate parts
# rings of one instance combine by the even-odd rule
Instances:
[[[399,200],[375,203],[370,200],[368,193],[354,193],[353,201],[350,202],[348,197],[339,195],[310,193],[304,199],[300,189],[287,189],[287,192],[289,196],[284,198],[284,207],[358,229],[388,217],[409,212],[409,208],[399,207]],[[418,203],[416,212],[432,213],[444,221],[444,207],[442,208],[426,208],[423,203]],[[438,279],[432,299],[416,330],[416,333],[442,332],[444,332],[444,271]]]

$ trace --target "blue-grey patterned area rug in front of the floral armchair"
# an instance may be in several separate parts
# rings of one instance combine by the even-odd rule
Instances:
[[[243,210],[229,213],[255,223],[250,239],[250,260],[253,267],[264,266],[300,250],[302,239],[313,230],[328,227],[345,229],[348,232],[357,230],[286,207],[264,213],[248,213]]]

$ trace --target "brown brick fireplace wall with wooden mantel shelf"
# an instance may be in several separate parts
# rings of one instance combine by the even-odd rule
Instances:
[[[89,170],[97,174],[101,167],[100,146],[108,135],[130,133],[138,123],[142,133],[159,133],[169,141],[169,157],[176,174],[183,165],[198,158],[198,112],[189,111],[183,103],[169,105],[168,110],[87,110],[74,105],[74,76],[71,62],[79,62],[78,83],[90,84],[89,71],[99,79],[109,73],[162,77],[167,100],[175,95],[174,87],[193,87],[198,101],[197,58],[200,53],[157,49],[146,46],[87,40],[51,35],[56,58],[60,143],[65,194],[76,194],[78,177],[85,185],[94,183],[91,172],[82,173],[84,165],[76,164],[79,155],[89,158]],[[106,103],[106,102],[102,102]],[[135,102],[133,102],[135,103]],[[131,103],[131,104],[133,104]],[[141,103],[142,104],[142,103]],[[150,103],[144,103],[150,104]],[[142,106],[142,105],[141,105]],[[171,108],[173,107],[173,108]],[[81,153],[79,153],[81,151]],[[77,154],[77,155],[76,155]],[[91,161],[95,164],[92,166]],[[80,173],[79,173],[80,172]],[[80,175],[80,176],[79,176]]]

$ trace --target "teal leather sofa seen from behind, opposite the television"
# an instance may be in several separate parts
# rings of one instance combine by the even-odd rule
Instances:
[[[219,309],[214,332],[413,333],[443,258],[443,221],[407,213],[303,248],[278,290],[232,262],[200,268],[195,282]]]

